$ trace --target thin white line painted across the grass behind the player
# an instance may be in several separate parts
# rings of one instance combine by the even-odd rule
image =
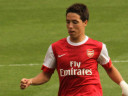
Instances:
[[[113,63],[127,63],[128,60],[120,60],[120,61],[114,60],[112,62]],[[0,67],[4,67],[4,66],[38,66],[38,65],[41,66],[41,64],[9,64],[9,65],[0,64]]]

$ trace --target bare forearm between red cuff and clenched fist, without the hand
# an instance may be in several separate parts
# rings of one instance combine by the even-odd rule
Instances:
[[[36,77],[31,78],[31,85],[40,85],[49,81],[51,74],[44,72],[39,73]]]

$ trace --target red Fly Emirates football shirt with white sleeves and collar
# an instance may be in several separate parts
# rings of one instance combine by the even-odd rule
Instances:
[[[59,74],[58,96],[102,96],[98,64],[111,67],[105,44],[86,36],[79,43],[70,36],[53,43],[45,56],[42,70]]]

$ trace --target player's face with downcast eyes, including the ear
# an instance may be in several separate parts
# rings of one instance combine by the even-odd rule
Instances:
[[[68,33],[71,37],[77,38],[81,35],[84,35],[87,21],[83,22],[78,14],[71,12],[68,13],[66,16],[66,23],[67,23]]]

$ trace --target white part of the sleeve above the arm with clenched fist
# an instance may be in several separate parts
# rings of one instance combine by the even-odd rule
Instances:
[[[53,50],[52,50],[52,46],[50,45],[50,47],[48,48],[48,51],[46,53],[45,59],[44,59],[44,66],[48,67],[48,68],[55,68],[56,67],[56,59],[55,56],[53,54]]]

